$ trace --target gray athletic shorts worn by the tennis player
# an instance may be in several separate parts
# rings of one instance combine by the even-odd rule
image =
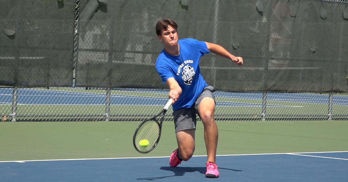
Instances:
[[[198,106],[199,103],[202,101],[205,97],[210,97],[214,99],[214,93],[215,88],[212,86],[204,87],[202,93],[198,96],[196,102],[194,105],[192,105],[191,108],[182,108],[173,111],[174,116],[174,125],[175,125],[175,132],[182,131],[182,130],[188,130],[188,129],[196,129],[196,114],[198,113]]]

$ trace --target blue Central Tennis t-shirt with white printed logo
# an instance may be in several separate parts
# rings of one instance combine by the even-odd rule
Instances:
[[[173,56],[163,49],[156,61],[156,70],[165,84],[173,77],[182,89],[179,99],[174,103],[173,110],[190,108],[203,88],[208,86],[199,70],[199,59],[209,53],[205,42],[193,38],[184,38],[178,41],[180,53]]]

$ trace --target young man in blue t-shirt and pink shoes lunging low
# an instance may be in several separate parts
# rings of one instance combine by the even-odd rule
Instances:
[[[169,98],[173,99],[173,116],[178,148],[169,159],[175,167],[181,161],[188,161],[195,151],[196,114],[204,125],[204,139],[207,149],[206,177],[219,177],[215,155],[218,131],[214,120],[214,87],[206,84],[199,70],[199,59],[213,52],[230,59],[239,66],[241,57],[235,57],[220,45],[197,41],[192,38],[179,40],[177,24],[170,19],[161,19],[156,25],[158,39],[164,49],[156,61],[156,70],[163,84],[169,86]]]

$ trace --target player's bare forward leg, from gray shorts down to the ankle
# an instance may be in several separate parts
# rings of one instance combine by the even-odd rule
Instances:
[[[214,120],[215,102],[210,97],[202,99],[198,106],[198,113],[204,125],[204,140],[207,149],[207,162],[215,163],[217,140],[219,133]]]

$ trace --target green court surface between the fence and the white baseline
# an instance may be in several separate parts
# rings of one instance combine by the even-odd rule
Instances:
[[[140,122],[0,122],[0,161],[170,156],[174,124],[164,121],[161,139],[148,154],[132,143]],[[348,151],[348,121],[217,121],[217,155]],[[197,155],[206,155],[197,122]]]

